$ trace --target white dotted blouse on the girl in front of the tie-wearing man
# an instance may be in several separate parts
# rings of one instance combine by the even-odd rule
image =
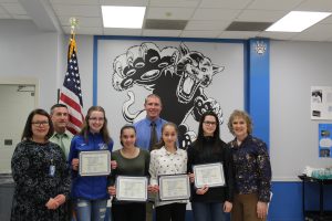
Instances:
[[[149,175],[151,185],[158,185],[157,177],[160,175],[181,175],[187,172],[187,151],[177,148],[175,152],[169,152],[165,147],[151,152]],[[158,198],[157,198],[158,199]],[[160,202],[156,199],[155,206],[169,204],[174,202],[186,203],[187,200]]]

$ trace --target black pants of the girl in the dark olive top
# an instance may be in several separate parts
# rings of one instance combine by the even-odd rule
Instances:
[[[113,221],[145,221],[145,203],[113,203],[112,220]]]

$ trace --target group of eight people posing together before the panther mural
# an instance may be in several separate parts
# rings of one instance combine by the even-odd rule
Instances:
[[[11,221],[104,221],[112,199],[112,220],[185,221],[188,200],[159,199],[158,177],[187,173],[195,221],[222,221],[231,212],[232,221],[262,221],[267,218],[271,189],[271,166],[266,144],[252,137],[249,115],[235,110],[228,128],[235,139],[220,139],[218,116],[203,114],[197,139],[187,150],[178,148],[177,125],[160,118],[162,101],[151,94],[144,107],[146,118],[124,125],[121,148],[113,151],[105,110],[89,108],[76,136],[66,129],[68,107],[55,104],[50,114],[34,109],[28,116],[22,141],[11,161],[15,182]],[[111,151],[111,175],[79,173],[81,151]],[[221,164],[225,186],[196,188],[196,165]],[[148,177],[149,201],[116,199],[117,176]],[[72,212],[74,211],[74,212]],[[72,215],[74,214],[74,215]]]

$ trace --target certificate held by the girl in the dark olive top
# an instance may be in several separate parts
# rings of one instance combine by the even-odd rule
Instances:
[[[120,201],[146,201],[147,199],[147,178],[126,177],[116,178],[116,200]]]

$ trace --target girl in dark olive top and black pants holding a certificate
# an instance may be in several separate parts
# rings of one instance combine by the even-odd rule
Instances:
[[[120,133],[121,149],[112,152],[112,160],[116,161],[116,169],[108,177],[108,193],[115,196],[112,202],[112,219],[114,221],[145,221],[146,202],[120,201],[116,198],[116,177],[148,177],[149,152],[135,146],[136,129],[133,125],[125,125]]]

